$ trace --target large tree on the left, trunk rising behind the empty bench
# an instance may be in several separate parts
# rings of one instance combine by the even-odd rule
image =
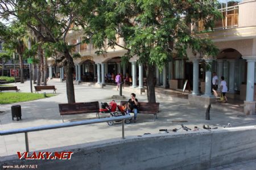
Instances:
[[[57,66],[64,67],[67,84],[68,103],[75,103],[73,86],[73,58],[71,49],[79,45],[68,45],[66,36],[73,25],[79,25],[81,4],[87,1],[5,1],[0,0],[0,16],[14,17],[26,24],[40,41],[44,42],[44,55],[51,57],[57,53]],[[89,3],[89,2],[88,2]],[[86,6],[86,5],[84,5]],[[89,11],[89,10],[88,10]]]

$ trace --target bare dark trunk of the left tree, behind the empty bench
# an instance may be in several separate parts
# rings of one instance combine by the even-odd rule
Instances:
[[[67,62],[64,65],[64,70],[66,73],[66,86],[67,86],[67,97],[68,97],[68,103],[76,103],[75,100],[75,90],[74,90],[74,84],[73,84],[73,58],[70,56],[68,50],[65,50],[65,58],[67,59]]]

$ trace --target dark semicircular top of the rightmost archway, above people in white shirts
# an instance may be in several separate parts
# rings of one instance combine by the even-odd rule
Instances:
[[[241,58],[242,54],[238,50],[233,48],[224,48],[220,50],[217,55],[217,59],[238,59]]]

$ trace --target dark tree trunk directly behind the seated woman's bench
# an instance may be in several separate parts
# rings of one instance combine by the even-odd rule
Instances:
[[[147,65],[147,101],[155,103],[155,80],[154,80],[155,66]]]

